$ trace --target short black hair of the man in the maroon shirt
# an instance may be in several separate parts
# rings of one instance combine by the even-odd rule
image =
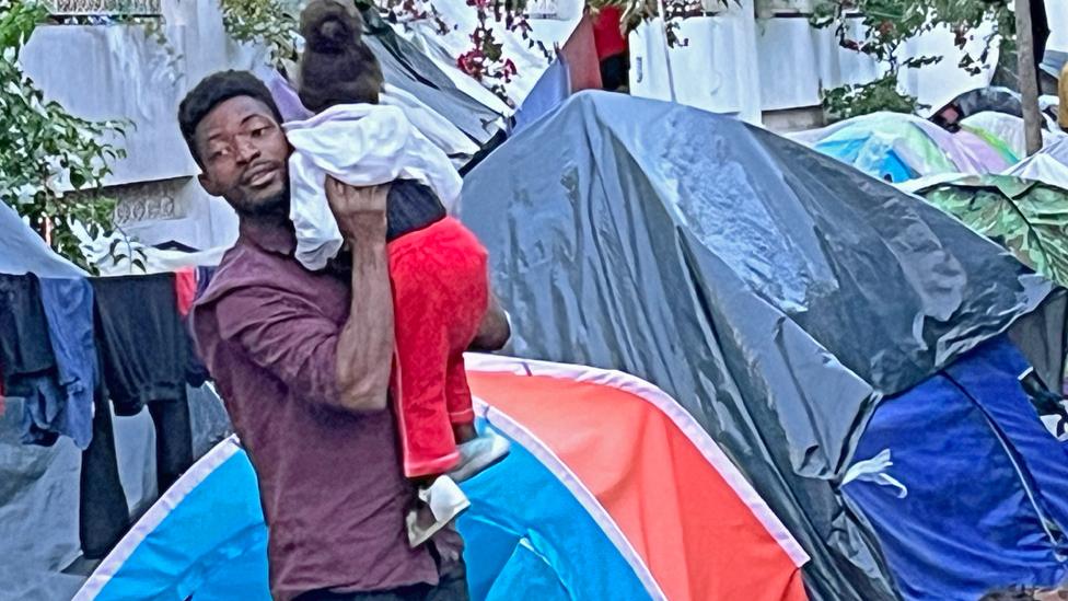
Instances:
[[[204,166],[200,154],[197,152],[197,126],[211,113],[211,109],[223,102],[237,96],[249,96],[258,100],[270,108],[275,119],[281,124],[281,112],[275,104],[267,85],[248,71],[219,71],[204,78],[178,105],[178,127],[182,128],[182,137],[189,146],[189,152]]]

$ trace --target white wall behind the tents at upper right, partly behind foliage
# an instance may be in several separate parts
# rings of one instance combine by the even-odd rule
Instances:
[[[822,91],[864,83],[885,71],[870,57],[841,48],[832,27],[812,27],[803,16],[755,19],[752,0],[731,7],[720,16],[682,21],[680,35],[689,46],[670,53],[662,23],[642,24],[630,36],[631,93],[672,100],[670,57],[677,102],[758,123],[762,111],[816,106]],[[850,26],[860,37],[859,20]],[[973,56],[978,55],[980,37],[988,32],[978,32],[970,43],[967,50]],[[988,84],[997,51],[987,61],[990,68],[974,77],[957,67],[963,54],[944,27],[909,42],[903,58],[945,58],[939,65],[905,70],[902,89],[938,108],[962,92]]]

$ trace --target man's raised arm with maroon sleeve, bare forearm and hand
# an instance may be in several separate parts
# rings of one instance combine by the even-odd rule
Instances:
[[[227,315],[219,334],[311,403],[349,412],[384,409],[394,345],[385,190],[328,184],[327,193],[353,259],[348,321],[338,328],[282,287],[245,288],[219,299],[216,313]]]

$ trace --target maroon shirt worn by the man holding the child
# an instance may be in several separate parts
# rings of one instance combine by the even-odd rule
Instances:
[[[242,222],[191,314],[200,356],[259,477],[271,592],[436,585],[426,545],[408,546],[414,490],[393,413],[324,403],[339,394],[335,357],[349,280],[307,271],[294,247],[291,229]]]

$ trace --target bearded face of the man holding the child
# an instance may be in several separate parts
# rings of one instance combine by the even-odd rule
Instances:
[[[197,126],[200,184],[242,215],[289,209],[289,142],[270,109],[251,96],[219,103]]]

